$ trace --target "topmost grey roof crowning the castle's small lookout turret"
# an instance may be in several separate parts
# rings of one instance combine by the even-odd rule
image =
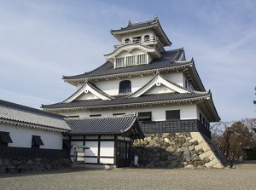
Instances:
[[[166,36],[166,33],[163,31],[162,27],[160,26],[160,21],[158,20],[157,16],[154,17],[153,20],[146,20],[143,22],[131,23],[131,21],[129,21],[127,26],[122,27],[118,30],[111,30],[110,32],[115,38],[117,38],[117,40],[120,41],[122,34],[148,29],[154,30],[154,32],[157,34],[157,37],[159,37],[161,43],[163,43],[165,46],[170,46],[172,44],[169,38]]]

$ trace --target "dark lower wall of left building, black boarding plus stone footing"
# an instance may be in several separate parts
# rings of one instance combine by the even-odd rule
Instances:
[[[70,166],[69,149],[0,147],[0,173],[42,172],[61,170]]]

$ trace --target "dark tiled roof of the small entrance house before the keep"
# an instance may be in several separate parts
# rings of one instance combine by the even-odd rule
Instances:
[[[65,118],[71,131],[67,135],[126,135],[143,138],[134,115],[96,118]]]

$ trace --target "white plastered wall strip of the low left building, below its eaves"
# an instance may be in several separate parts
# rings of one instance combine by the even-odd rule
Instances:
[[[29,127],[16,126],[13,124],[0,123],[0,131],[9,132],[13,143],[9,147],[32,147],[32,135],[41,136],[44,146],[41,149],[62,149],[63,136],[61,132],[51,130],[39,130]]]

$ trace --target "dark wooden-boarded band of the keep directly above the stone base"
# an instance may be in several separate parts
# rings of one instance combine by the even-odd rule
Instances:
[[[211,139],[211,131],[197,119],[173,121],[139,121],[143,133],[201,132]]]

